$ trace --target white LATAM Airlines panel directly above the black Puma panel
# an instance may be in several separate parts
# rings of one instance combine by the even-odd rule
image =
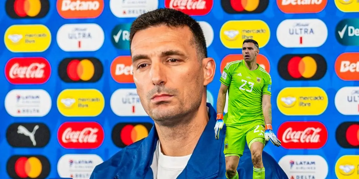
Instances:
[[[51,109],[51,97],[43,89],[13,89],[5,97],[5,109],[13,117],[43,117]]]

